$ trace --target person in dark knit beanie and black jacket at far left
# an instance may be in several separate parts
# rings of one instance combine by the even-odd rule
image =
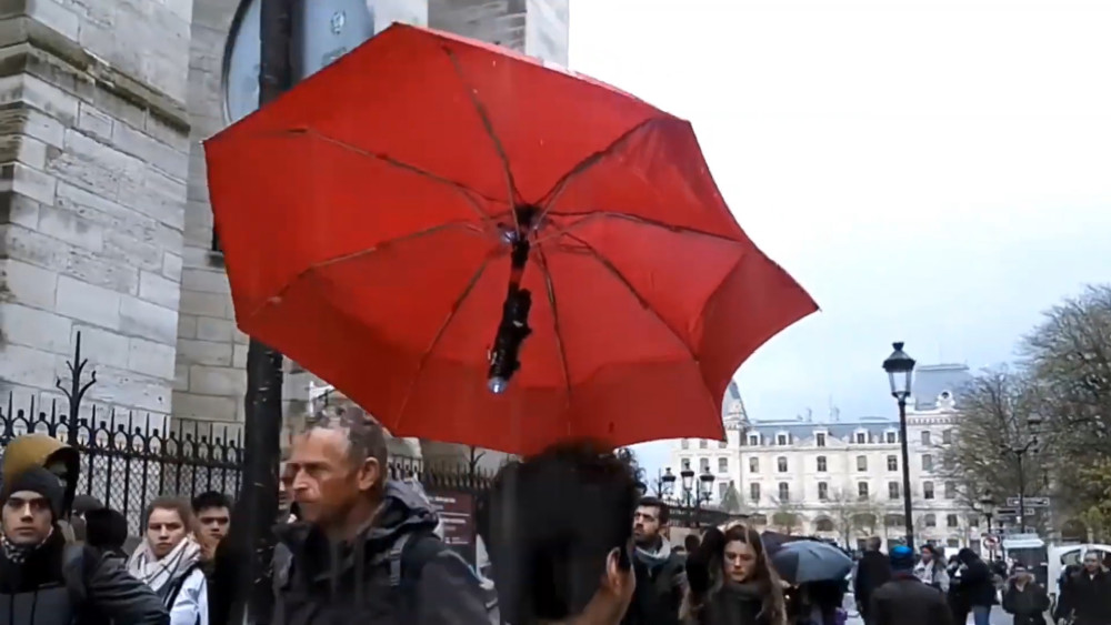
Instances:
[[[0,623],[169,623],[162,602],[120,560],[67,544],[58,525],[66,487],[54,473],[30,466],[8,475],[0,498]]]

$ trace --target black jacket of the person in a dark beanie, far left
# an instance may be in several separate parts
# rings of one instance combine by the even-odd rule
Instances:
[[[109,619],[164,625],[170,616],[120,560],[103,557],[92,547],[67,548],[61,532],[56,531],[22,564],[0,550],[0,623],[100,625]]]

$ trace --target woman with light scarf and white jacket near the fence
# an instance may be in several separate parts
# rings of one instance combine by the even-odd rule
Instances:
[[[146,535],[128,560],[128,572],[150,586],[170,611],[170,625],[208,625],[208,582],[189,503],[174,497],[151,502]]]

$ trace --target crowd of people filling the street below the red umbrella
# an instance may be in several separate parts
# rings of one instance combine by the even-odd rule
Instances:
[[[507,464],[476,510],[493,588],[442,540],[419,487],[388,477],[387,435],[358,409],[308,420],[283,464],[272,613],[246,614],[221,493],[159,497],[129,537],[118,511],[74,496],[79,457],[46,435],[3,460],[0,624],[842,625],[847,579],[789,584],[743,522],[668,540],[669,507],[628,458],[569,442]],[[296,506],[296,507],[294,507]],[[971,550],[880,552],[852,582],[868,625],[987,625],[999,572]],[[1058,616],[1111,625],[1098,560],[1062,581]],[[1045,589],[1017,566],[1001,593],[1015,625],[1039,625]],[[1062,612],[1063,611],[1063,612]]]

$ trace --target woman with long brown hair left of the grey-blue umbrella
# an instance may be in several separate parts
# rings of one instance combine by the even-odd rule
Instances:
[[[742,523],[707,531],[687,557],[684,625],[785,625],[783,586],[760,534]]]

